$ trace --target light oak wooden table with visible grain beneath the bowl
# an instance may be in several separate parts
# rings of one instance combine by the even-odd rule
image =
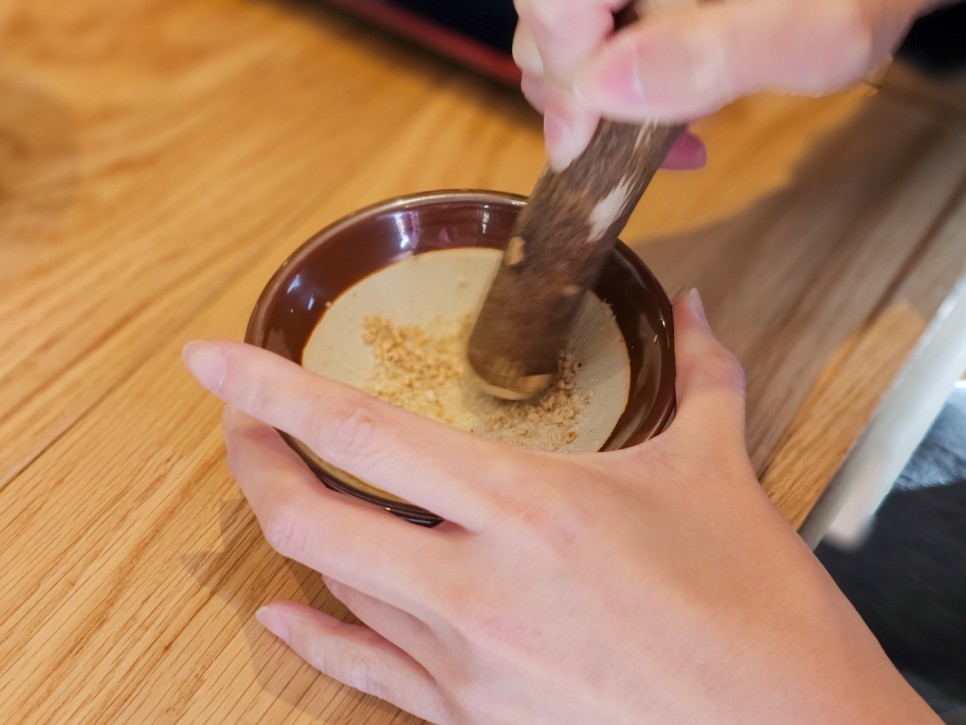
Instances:
[[[410,722],[253,620],[342,611],[263,542],[178,362],[239,338],[304,238],[391,195],[525,192],[517,94],[281,0],[0,0],[0,721]],[[961,275],[961,111],[868,87],[697,124],[632,241],[748,373],[801,524]],[[482,583],[481,583],[482,584]]]

